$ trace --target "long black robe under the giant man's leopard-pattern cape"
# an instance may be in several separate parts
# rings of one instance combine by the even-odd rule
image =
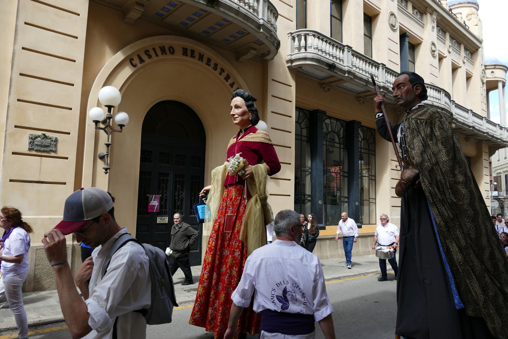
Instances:
[[[426,109],[430,108],[417,107],[415,111]],[[390,140],[384,119],[376,117],[379,134]],[[400,124],[390,127],[396,138],[399,134],[405,158],[405,130],[399,129]],[[482,318],[465,313],[423,187],[411,188],[401,198],[400,222],[395,332],[414,339],[493,338]]]

